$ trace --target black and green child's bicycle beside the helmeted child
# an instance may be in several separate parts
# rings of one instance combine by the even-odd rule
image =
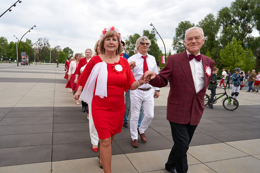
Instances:
[[[220,99],[221,97],[226,96],[226,98],[221,100],[223,102],[222,103],[223,107],[225,109],[227,109],[228,111],[234,111],[234,110],[236,110],[238,108],[239,103],[238,103],[237,99],[227,95],[226,89],[228,89],[227,86],[224,88],[224,92],[223,93],[216,94],[216,95],[220,95],[220,94],[222,94],[222,95],[220,95],[218,98],[215,97],[213,99],[213,104],[217,103],[217,100]],[[208,104],[208,102],[210,101],[210,96],[211,96],[211,94],[210,95],[205,94],[204,106],[206,106]],[[233,101],[233,103],[232,103],[232,101]]]

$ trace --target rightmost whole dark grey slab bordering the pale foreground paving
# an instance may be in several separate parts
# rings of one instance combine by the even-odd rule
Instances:
[[[256,137],[249,136],[248,134],[242,133],[237,130],[222,131],[222,132],[208,132],[206,134],[211,137],[214,137],[215,139],[222,141],[222,142],[241,141],[241,140],[248,140],[248,139],[256,138]]]

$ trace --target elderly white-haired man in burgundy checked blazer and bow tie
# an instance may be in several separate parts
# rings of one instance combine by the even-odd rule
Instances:
[[[189,143],[204,111],[203,99],[215,64],[209,57],[200,54],[204,41],[202,28],[189,28],[184,40],[187,50],[169,56],[158,75],[152,71],[145,72],[145,79],[148,76],[146,80],[152,86],[164,87],[168,80],[170,82],[167,120],[171,125],[174,145],[165,164],[169,172],[188,171]]]

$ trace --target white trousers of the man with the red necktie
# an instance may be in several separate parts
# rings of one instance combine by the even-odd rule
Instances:
[[[139,127],[139,132],[144,133],[154,118],[154,89],[149,91],[133,90],[130,91],[131,99],[131,118],[130,118],[130,132],[132,140],[138,139],[138,119],[140,108],[143,104],[144,117]]]

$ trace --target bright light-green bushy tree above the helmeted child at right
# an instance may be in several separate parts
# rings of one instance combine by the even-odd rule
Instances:
[[[225,69],[234,70],[236,67],[251,71],[255,67],[255,59],[251,49],[243,48],[242,42],[233,40],[220,51],[220,61]]]

